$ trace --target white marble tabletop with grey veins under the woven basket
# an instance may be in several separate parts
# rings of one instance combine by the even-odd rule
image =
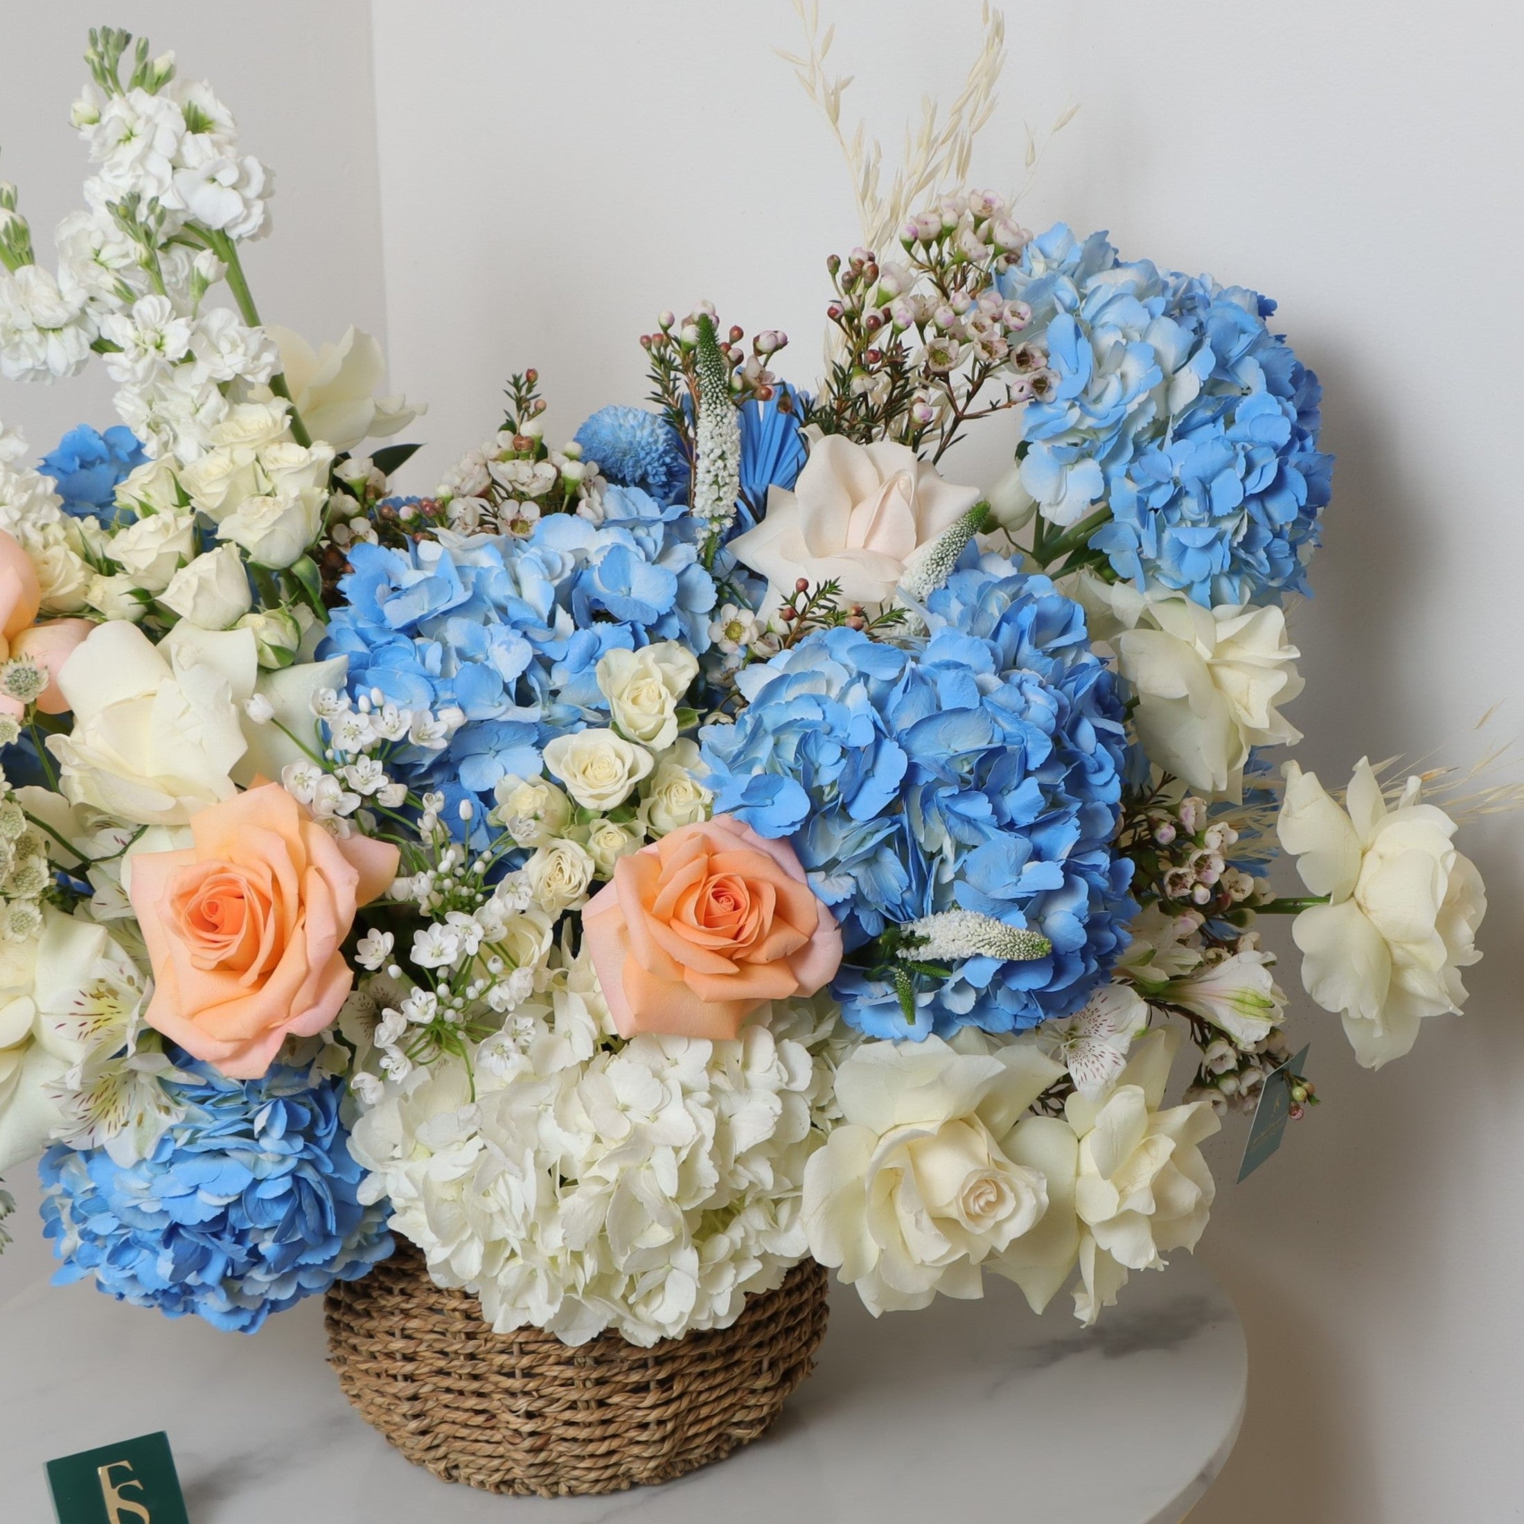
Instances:
[[[50,1524],[43,1463],[166,1430],[192,1524],[1175,1524],[1237,1437],[1247,1355],[1207,1268],[1134,1276],[1085,1332],[1013,1286],[875,1323],[837,1288],[815,1375],[764,1440],[666,1487],[498,1498],[410,1466],[323,1361],[317,1301],[247,1338],[52,1288],[15,1172],[0,1256],[0,1516]]]

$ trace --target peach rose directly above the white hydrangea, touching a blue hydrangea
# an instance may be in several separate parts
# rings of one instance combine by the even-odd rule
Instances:
[[[841,965],[835,916],[794,849],[732,815],[622,856],[582,931],[625,1038],[733,1038],[757,1006],[812,995]]]

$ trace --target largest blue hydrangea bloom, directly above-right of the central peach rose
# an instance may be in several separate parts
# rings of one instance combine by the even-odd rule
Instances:
[[[971,550],[928,622],[907,649],[838,628],[747,669],[748,707],[703,733],[707,783],[716,812],[788,837],[834,907],[849,1023],[893,1038],[1021,1030],[1076,1010],[1126,946],[1123,710],[1084,611],[1047,578]],[[1030,927],[1053,951],[968,959],[910,1023],[852,952],[952,908]]]

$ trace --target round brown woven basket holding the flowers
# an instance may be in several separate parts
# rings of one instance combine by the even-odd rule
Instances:
[[[494,1334],[407,1244],[325,1300],[344,1396],[416,1466],[486,1492],[619,1492],[722,1460],[779,1416],[826,1332],[826,1273],[805,1260],[728,1329],[651,1349]]]

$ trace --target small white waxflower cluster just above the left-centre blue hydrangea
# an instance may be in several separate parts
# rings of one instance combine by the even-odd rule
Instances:
[[[607,486],[597,462],[584,459],[575,440],[547,450],[544,425],[532,418],[465,454],[434,495],[443,504],[447,527],[457,533],[524,536],[543,514],[575,512],[600,524]]]

